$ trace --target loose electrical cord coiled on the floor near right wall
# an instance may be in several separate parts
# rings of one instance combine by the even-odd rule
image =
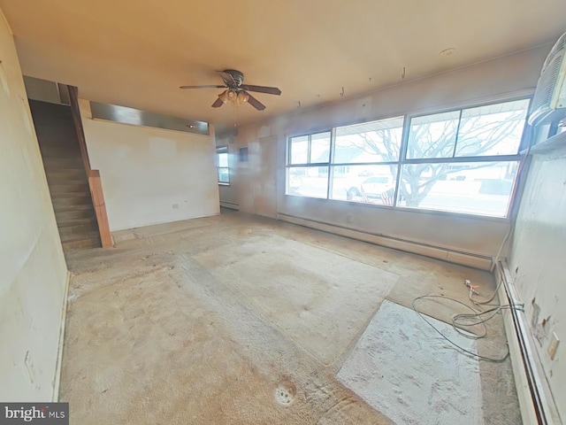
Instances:
[[[502,361],[505,361],[508,357],[509,357],[509,350],[507,351],[507,353],[501,357],[501,358],[493,358],[493,357],[487,357],[487,356],[481,356],[479,355],[477,352],[470,352],[470,350],[466,350],[465,348],[463,348],[461,345],[456,344],[454,341],[452,341],[450,338],[448,338],[447,336],[445,336],[440,330],[439,328],[436,328],[431,321],[428,321],[424,315],[424,313],[422,313],[421,311],[419,311],[417,309],[417,301],[422,300],[422,299],[432,299],[432,298],[441,298],[441,299],[445,299],[448,301],[452,301],[455,302],[459,305],[463,305],[464,307],[466,307],[468,310],[470,310],[472,313],[460,313],[460,314],[456,314],[453,318],[452,318],[452,327],[455,329],[455,331],[462,335],[462,336],[466,336],[467,338],[470,339],[480,339],[480,338],[484,338],[487,336],[487,327],[486,327],[486,321],[490,321],[491,319],[493,319],[493,317],[495,317],[495,315],[497,313],[500,313],[501,310],[503,309],[522,309],[521,305],[497,305],[495,308],[486,310],[485,312],[476,312],[476,310],[474,310],[472,307],[470,307],[470,305],[466,305],[464,304],[462,301],[458,301],[455,298],[449,298],[449,297],[444,297],[442,295],[424,295],[421,297],[417,297],[415,299],[413,299],[412,305],[413,305],[413,309],[415,310],[415,312],[418,313],[418,315],[421,317],[421,319],[423,319],[426,323],[428,323],[428,325],[433,328],[440,336],[442,336],[445,340],[447,340],[448,343],[454,345],[458,350],[465,352],[466,354],[470,355],[471,357],[477,358],[477,359],[482,359],[482,360],[486,360],[486,361],[492,361],[494,363],[501,363]],[[488,317],[484,318],[483,316],[487,314]],[[472,323],[464,323],[463,321],[472,321]],[[482,330],[480,333],[476,334],[474,332],[471,332],[470,330],[467,330],[465,328],[470,328],[472,326],[481,326]]]

